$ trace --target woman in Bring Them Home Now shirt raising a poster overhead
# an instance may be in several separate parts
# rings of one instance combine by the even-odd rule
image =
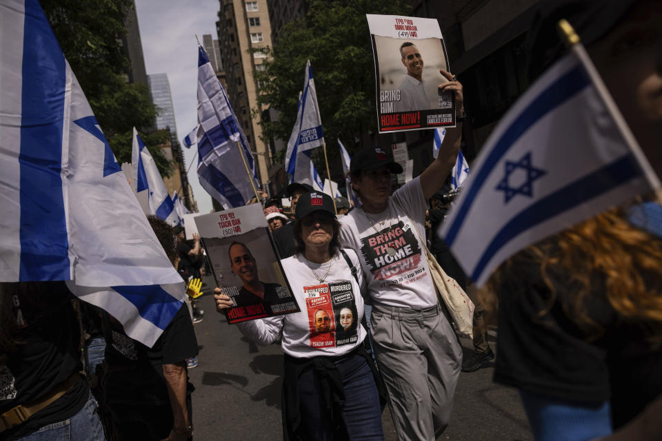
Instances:
[[[462,112],[462,86],[453,76]],[[437,300],[425,256],[425,210],[457,158],[461,123],[448,129],[439,156],[391,194],[391,174],[402,167],[379,148],[357,152],[350,164],[352,189],[361,198],[341,221],[343,247],[354,249],[373,302],[370,334],[388,388],[400,440],[435,440],[448,426],[462,349]]]

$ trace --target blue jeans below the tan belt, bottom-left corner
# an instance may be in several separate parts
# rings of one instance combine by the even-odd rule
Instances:
[[[23,441],[103,441],[103,427],[97,416],[97,400],[90,395],[83,409],[68,420],[41,427],[30,435],[18,438]]]

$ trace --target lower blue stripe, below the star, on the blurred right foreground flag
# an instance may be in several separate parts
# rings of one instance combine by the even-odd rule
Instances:
[[[483,256],[474,268],[472,278],[479,280],[483,269],[490,263],[494,254],[521,232],[544,220],[559,216],[559,214],[619,187],[639,175],[641,175],[641,169],[636,163],[636,159],[627,154],[530,205],[494,235],[492,242],[485,248]]]

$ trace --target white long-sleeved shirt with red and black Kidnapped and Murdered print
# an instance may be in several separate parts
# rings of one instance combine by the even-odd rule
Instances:
[[[357,254],[352,249],[345,249],[345,252],[357,268],[359,283],[363,284]],[[270,345],[281,337],[283,352],[297,358],[341,356],[363,342],[366,332],[361,325],[361,290],[340,252],[331,258],[330,267],[329,263],[312,263],[301,254],[294,254],[281,263],[301,311],[238,323],[244,336],[259,345]],[[313,270],[317,276],[326,275],[323,282],[319,282]],[[354,316],[350,326],[348,313]],[[344,316],[342,324],[341,315]],[[316,327],[316,318],[328,318],[328,324]]]

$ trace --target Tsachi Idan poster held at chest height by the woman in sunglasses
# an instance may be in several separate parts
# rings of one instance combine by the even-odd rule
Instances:
[[[300,311],[260,204],[195,217],[217,285],[232,298],[228,323]]]

